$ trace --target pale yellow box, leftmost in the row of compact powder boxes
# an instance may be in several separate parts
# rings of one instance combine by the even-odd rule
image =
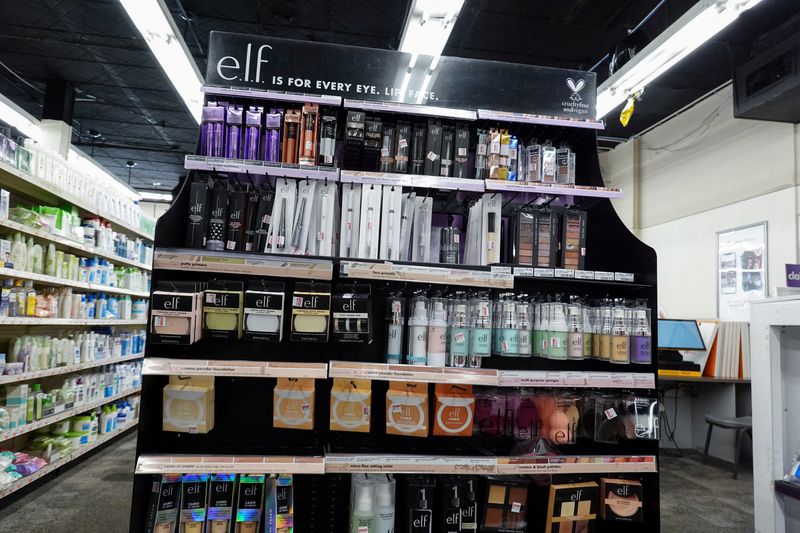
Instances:
[[[208,433],[214,429],[214,376],[170,376],[163,390],[162,431]]]

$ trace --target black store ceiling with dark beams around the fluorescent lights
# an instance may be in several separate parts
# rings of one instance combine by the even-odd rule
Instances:
[[[396,49],[408,0],[165,0],[201,72],[208,32],[268,34]],[[467,0],[445,55],[589,69],[622,41],[659,0]],[[667,0],[642,26],[643,43],[695,0]],[[170,189],[194,150],[197,126],[118,0],[4,2],[0,25],[0,93],[41,115],[50,78],[74,84],[73,142],[138,189]],[[188,13],[188,16],[185,14]],[[627,138],[730,79],[754,40],[800,14],[797,0],[763,0],[659,78],[628,128],[608,115],[602,134]],[[182,16],[183,15],[183,16]],[[186,22],[190,18],[191,22]],[[600,80],[608,63],[597,67]],[[90,131],[99,133],[93,139]],[[94,143],[94,146],[92,146]],[[608,141],[601,143],[609,145]]]

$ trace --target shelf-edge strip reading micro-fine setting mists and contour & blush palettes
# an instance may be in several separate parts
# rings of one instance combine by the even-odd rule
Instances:
[[[328,454],[325,472],[393,474],[590,474],[657,472],[653,455],[481,457],[456,455]]]

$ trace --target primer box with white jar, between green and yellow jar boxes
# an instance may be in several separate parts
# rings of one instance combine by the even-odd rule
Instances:
[[[280,342],[284,299],[283,283],[250,280],[244,293],[244,338]]]

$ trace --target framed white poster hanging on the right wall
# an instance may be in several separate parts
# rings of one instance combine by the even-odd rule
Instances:
[[[717,232],[717,316],[749,321],[750,302],[767,297],[767,223]]]

